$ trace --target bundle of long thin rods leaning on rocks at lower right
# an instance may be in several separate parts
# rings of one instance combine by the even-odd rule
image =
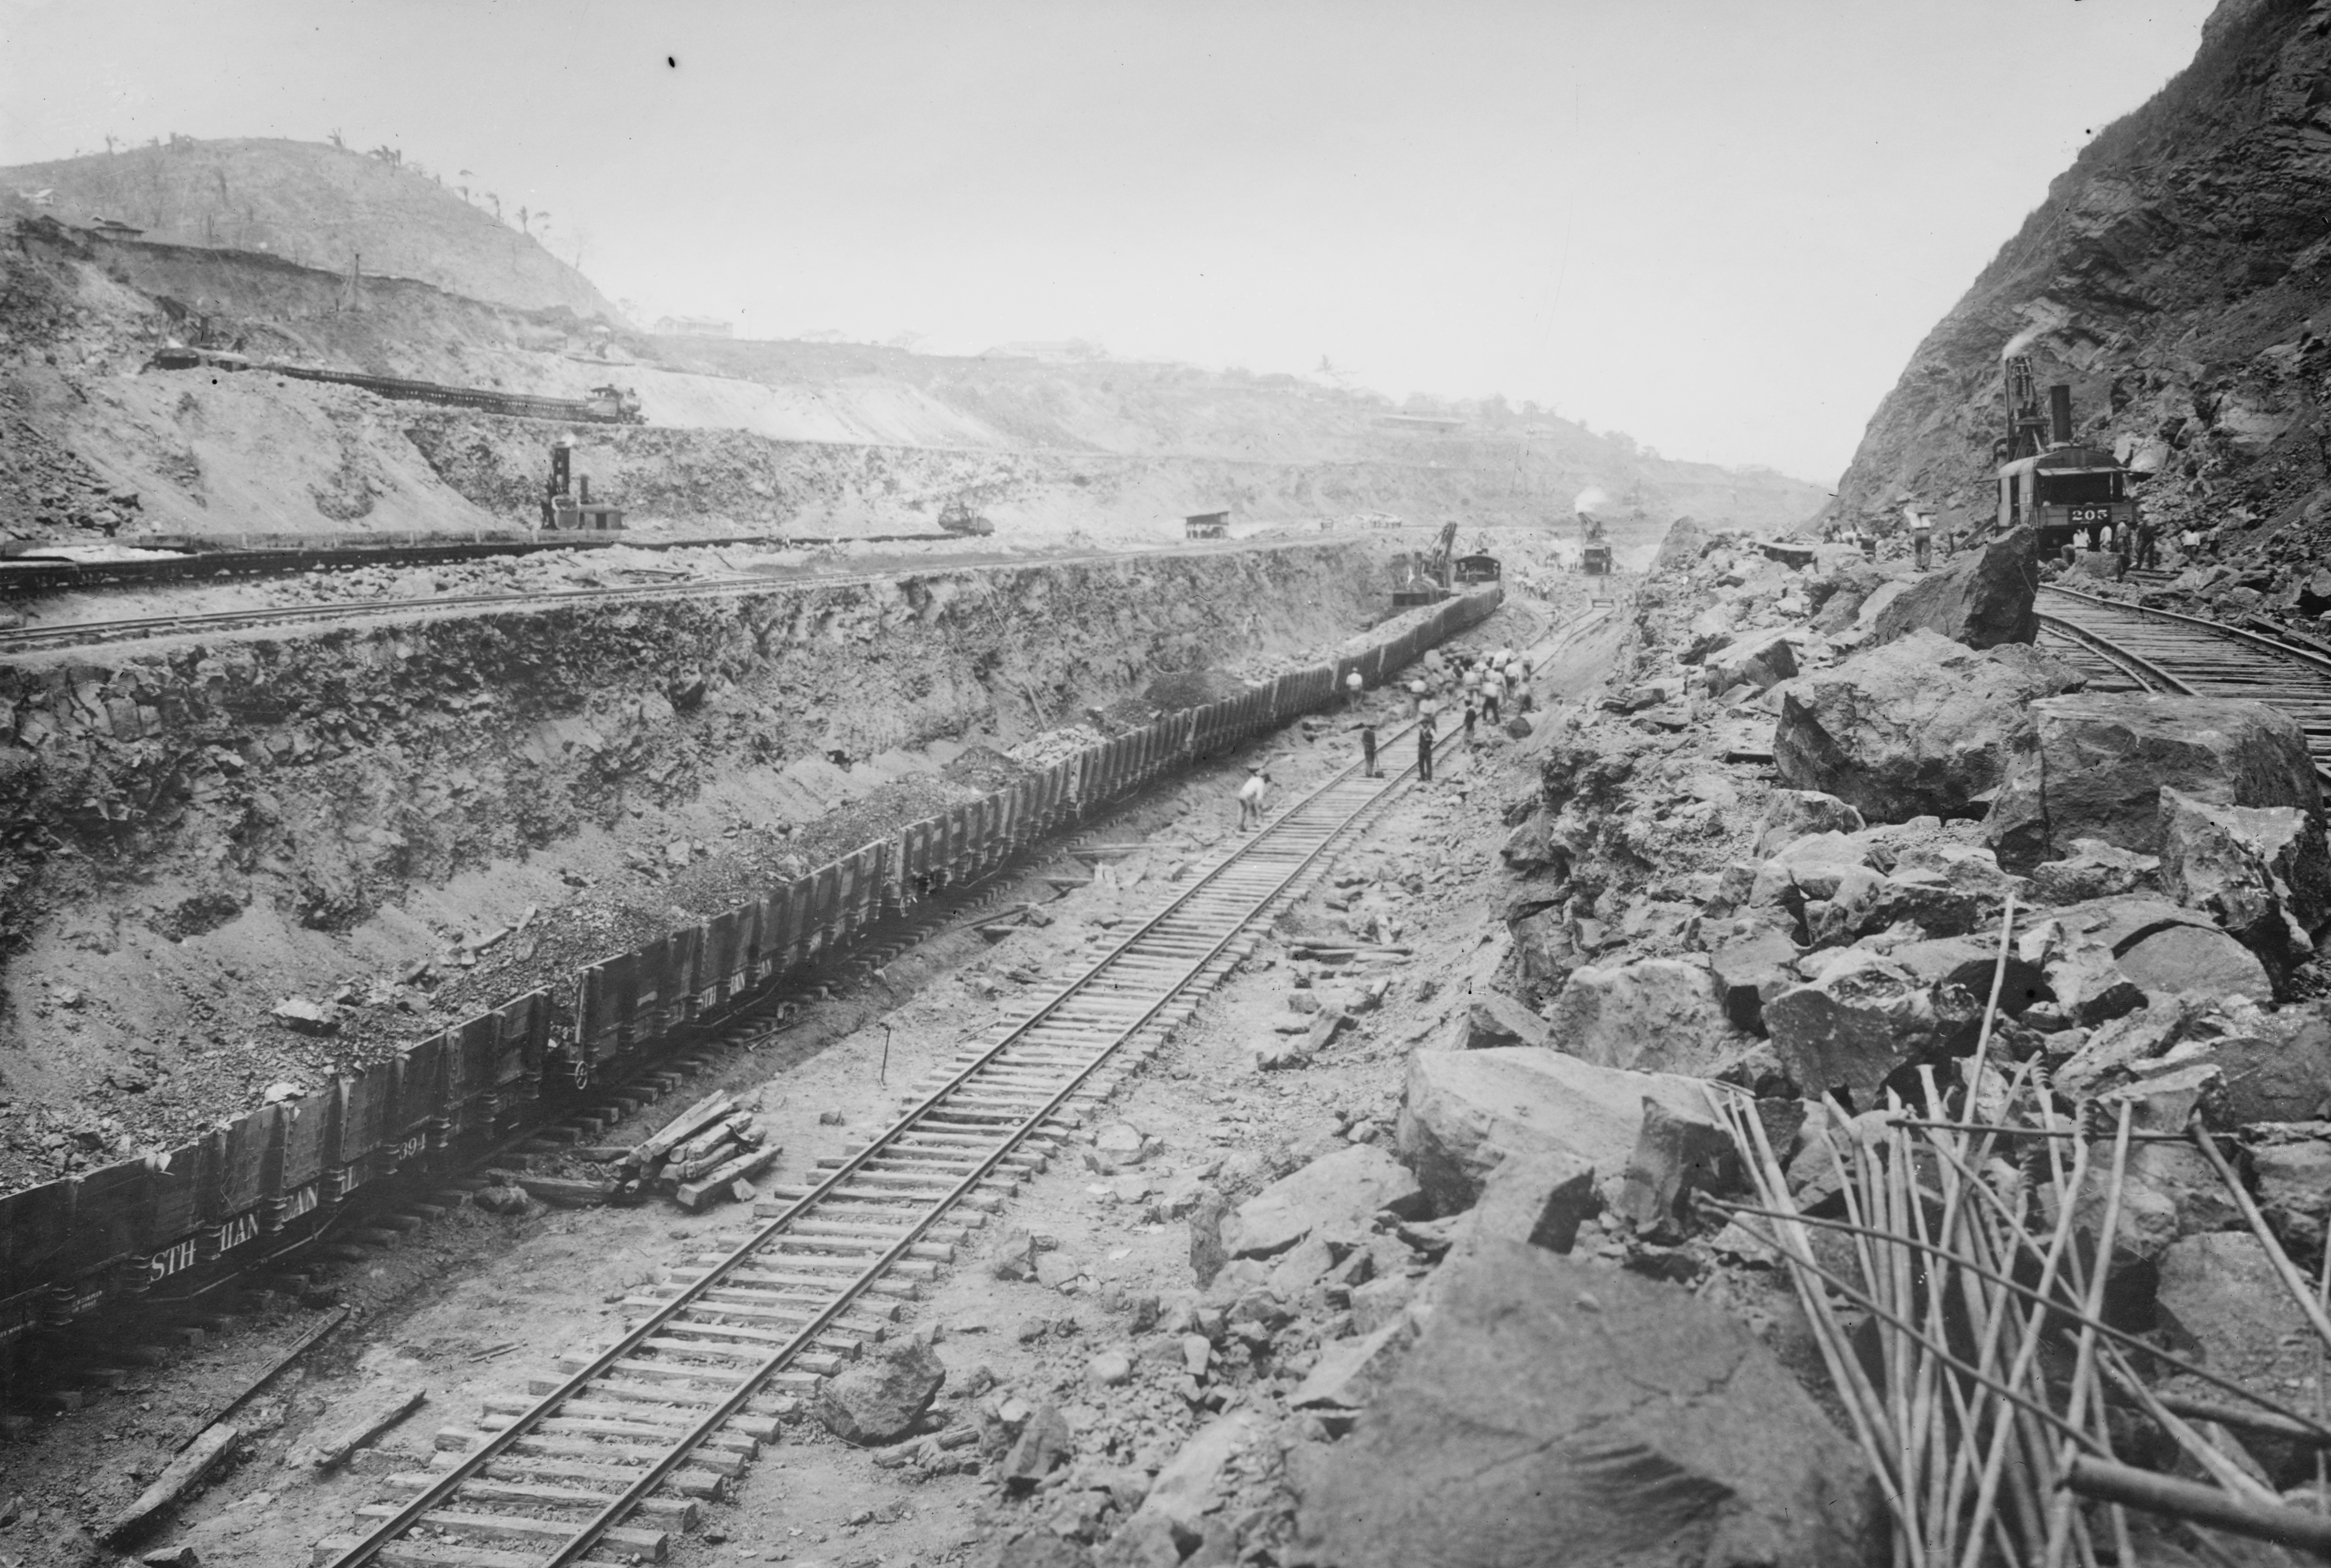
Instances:
[[[2331,1424],[2105,1321],[2131,1146],[2191,1139],[2331,1347],[2324,1281],[2291,1265],[2198,1118],[2145,1128],[2135,1097],[2075,1118],[2054,1107],[2037,1062],[1991,1065],[1995,1009],[1998,983],[1981,1044],[1958,1065],[1963,1095],[1928,1067],[1923,1104],[1888,1095],[1881,1121],[1825,1102],[1807,1137],[1828,1170],[1800,1165],[1795,1191],[1755,1102],[1711,1086],[1753,1191],[1753,1202],[1716,1207],[1786,1265],[1893,1514],[1893,1561],[2135,1563],[2131,1510],[2198,1533],[2205,1552],[2226,1531],[2331,1554],[2331,1517],[2287,1505],[2224,1438],[2224,1426],[2249,1426],[2322,1452]],[[2226,1398],[2156,1393],[2163,1377]],[[2165,1433],[2207,1482],[2124,1463],[2110,1410]]]

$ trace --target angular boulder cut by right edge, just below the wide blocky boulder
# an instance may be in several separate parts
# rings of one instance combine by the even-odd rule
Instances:
[[[2331,916],[2322,818],[2296,806],[2217,806],[2163,785],[2161,885],[2289,974],[2315,955],[2315,930]]]

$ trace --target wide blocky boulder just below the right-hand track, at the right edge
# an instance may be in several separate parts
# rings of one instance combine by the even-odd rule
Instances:
[[[2103,839],[2161,853],[2161,790],[2214,806],[2291,806],[2322,818],[2298,720],[2263,701],[2077,692],[2030,704],[2014,732],[1988,839],[2030,871]]]

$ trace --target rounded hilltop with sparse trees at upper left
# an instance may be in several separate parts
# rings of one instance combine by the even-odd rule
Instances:
[[[49,191],[47,207],[30,196]],[[329,273],[350,254],[366,273],[422,282],[499,305],[615,308],[571,266],[471,205],[438,177],[322,142],[203,142],[0,168],[0,212],[44,210],[65,224],[114,219],[172,245],[266,252]]]

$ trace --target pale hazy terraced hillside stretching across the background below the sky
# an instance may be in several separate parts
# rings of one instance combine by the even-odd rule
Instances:
[[[930,531],[965,499],[1016,543],[1159,543],[1219,508],[1240,531],[1387,513],[1566,529],[1599,489],[1650,543],[1683,513],[1786,529],[1821,506],[1814,485],[1662,459],[1503,398],[1394,408],[1319,377],[650,338],[534,240],[331,147],[182,140],[0,175],[0,529],[19,538],[534,515],[557,426],[152,370],[172,342],[548,396],[618,382],[650,429],[583,436],[634,527]],[[145,233],[100,235],[96,217]]]

